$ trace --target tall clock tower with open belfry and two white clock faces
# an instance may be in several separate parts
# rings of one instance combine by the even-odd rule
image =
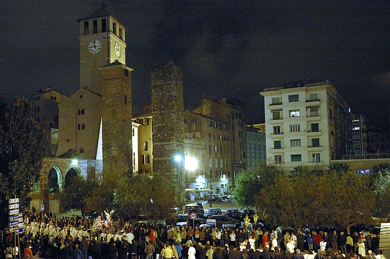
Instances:
[[[126,64],[126,28],[104,7],[77,21],[80,24],[80,88],[101,94],[99,68],[115,60]]]

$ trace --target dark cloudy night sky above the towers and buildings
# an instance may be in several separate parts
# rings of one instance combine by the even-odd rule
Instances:
[[[264,88],[329,80],[354,113],[381,122],[390,94],[388,1],[105,0],[126,28],[136,111],[150,102],[150,69],[183,68],[184,105],[237,98],[264,122]],[[31,99],[79,89],[79,24],[95,0],[2,1],[0,92]]]

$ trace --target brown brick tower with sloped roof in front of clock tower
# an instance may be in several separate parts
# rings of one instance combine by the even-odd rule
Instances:
[[[103,179],[133,171],[132,69],[118,60],[101,67]]]

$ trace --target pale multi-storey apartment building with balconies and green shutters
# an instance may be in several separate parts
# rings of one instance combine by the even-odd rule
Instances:
[[[267,159],[287,170],[329,165],[351,148],[348,105],[329,81],[264,89]]]

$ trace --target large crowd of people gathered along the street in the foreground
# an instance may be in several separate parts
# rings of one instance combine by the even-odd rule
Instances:
[[[3,258],[59,259],[381,259],[379,238],[362,232],[345,235],[313,231],[305,235],[280,229],[218,229],[131,224],[119,218],[110,228],[80,217],[25,213],[25,233],[0,244]],[[263,232],[264,231],[264,232]],[[14,246],[14,244],[17,244]],[[19,252],[20,247],[20,252]],[[383,257],[383,256],[382,256]],[[1,259],[1,258],[0,258]],[[382,258],[383,259],[383,258]]]

